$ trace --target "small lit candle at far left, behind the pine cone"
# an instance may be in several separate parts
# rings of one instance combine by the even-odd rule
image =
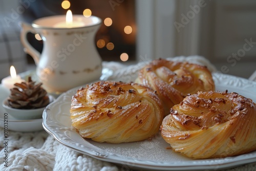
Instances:
[[[1,81],[1,83],[4,87],[6,87],[8,89],[12,89],[14,87],[15,83],[20,83],[20,82],[24,81],[22,78],[20,78],[19,75],[16,75],[16,71],[13,66],[11,66],[11,68],[10,68],[10,74],[11,74],[11,76],[8,76],[8,77],[2,79],[2,81]]]

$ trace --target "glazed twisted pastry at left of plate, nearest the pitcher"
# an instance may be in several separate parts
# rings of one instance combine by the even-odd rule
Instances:
[[[100,81],[77,90],[72,125],[83,138],[121,143],[151,138],[163,119],[156,93],[136,83]]]

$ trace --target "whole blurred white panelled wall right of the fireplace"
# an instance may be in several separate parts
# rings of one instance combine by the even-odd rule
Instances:
[[[138,61],[201,55],[225,74],[248,78],[256,70],[256,1],[137,0],[136,7]],[[253,47],[241,54],[247,41]]]

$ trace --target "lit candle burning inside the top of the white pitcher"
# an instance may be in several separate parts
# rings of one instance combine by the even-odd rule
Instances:
[[[66,14],[66,21],[65,22],[59,22],[55,24],[54,28],[76,28],[76,27],[84,27],[86,26],[85,23],[80,21],[73,21],[73,16],[71,10],[68,10]]]

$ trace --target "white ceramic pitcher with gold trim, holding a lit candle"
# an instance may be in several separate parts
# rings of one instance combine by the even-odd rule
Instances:
[[[101,58],[94,43],[101,19],[74,15],[73,20],[82,26],[56,28],[56,23],[63,20],[65,16],[57,15],[36,19],[32,25],[22,23],[20,33],[25,52],[37,65],[36,75],[51,93],[65,92],[97,80],[102,71]],[[29,44],[28,32],[38,33],[42,38],[41,54]]]

